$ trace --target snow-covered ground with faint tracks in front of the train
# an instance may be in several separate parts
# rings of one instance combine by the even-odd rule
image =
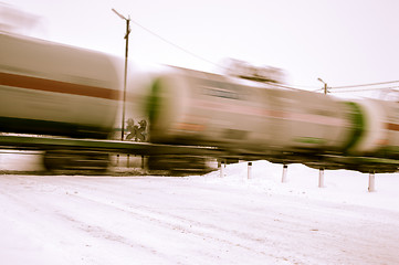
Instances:
[[[0,155],[0,169],[40,167]],[[0,176],[1,264],[399,264],[399,174]]]

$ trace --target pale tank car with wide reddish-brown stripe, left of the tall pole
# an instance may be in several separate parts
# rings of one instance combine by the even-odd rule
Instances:
[[[109,56],[0,34],[0,131],[105,138],[119,82]]]

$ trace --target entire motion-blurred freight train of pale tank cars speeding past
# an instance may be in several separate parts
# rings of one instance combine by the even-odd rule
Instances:
[[[122,75],[114,59],[7,33],[0,34],[0,131],[109,138],[120,106]],[[148,116],[154,146],[214,147],[229,160],[398,170],[399,103],[345,102],[178,67],[154,75],[134,99]],[[150,166],[170,165],[162,163],[167,148],[157,152],[154,146]],[[81,161],[98,157],[103,163],[107,150],[93,156],[81,147],[46,149],[44,165],[60,167],[76,153],[85,153]]]

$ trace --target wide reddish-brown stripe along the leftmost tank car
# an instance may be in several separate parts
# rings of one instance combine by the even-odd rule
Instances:
[[[57,92],[81,96],[119,99],[120,93],[111,88],[73,84],[61,81],[45,80],[25,75],[0,73],[0,85],[29,88],[35,91]]]

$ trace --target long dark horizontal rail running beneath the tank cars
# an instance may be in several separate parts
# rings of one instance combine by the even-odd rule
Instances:
[[[244,153],[239,150],[223,150],[216,147],[177,146],[151,142],[74,139],[42,136],[0,135],[0,149],[19,150],[53,150],[74,149],[94,150],[109,153],[126,153],[138,156],[204,156],[229,160],[269,160],[279,163],[305,163],[318,169],[349,169],[360,172],[395,172],[399,170],[399,160],[375,157],[355,157],[328,153],[295,153],[295,152],[265,152]]]

